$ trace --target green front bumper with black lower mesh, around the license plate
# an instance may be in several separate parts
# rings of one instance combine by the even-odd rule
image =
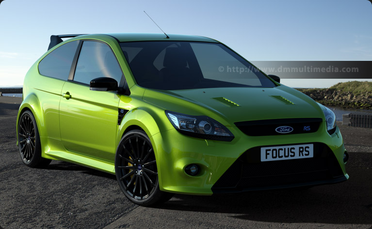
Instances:
[[[329,135],[324,125],[314,133],[279,136],[247,136],[236,127],[229,127],[235,136],[231,142],[193,138],[176,129],[159,132],[150,139],[157,158],[160,189],[211,195],[347,180],[340,130],[337,128]],[[314,143],[314,158],[275,162],[259,162],[254,158],[255,150],[261,146],[301,143]],[[196,176],[186,174],[185,167],[189,164],[197,164],[201,172]],[[276,170],[268,171],[273,165]],[[307,165],[305,170],[304,165]]]

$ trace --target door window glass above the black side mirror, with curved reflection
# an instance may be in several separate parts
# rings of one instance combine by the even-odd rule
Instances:
[[[74,81],[90,84],[98,77],[110,77],[121,85],[123,72],[111,48],[100,42],[84,41],[76,65]]]

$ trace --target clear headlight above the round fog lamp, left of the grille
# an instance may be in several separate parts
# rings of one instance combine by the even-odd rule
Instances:
[[[225,126],[208,116],[184,115],[171,111],[165,111],[165,114],[172,125],[185,135],[226,142],[234,139],[234,135]]]

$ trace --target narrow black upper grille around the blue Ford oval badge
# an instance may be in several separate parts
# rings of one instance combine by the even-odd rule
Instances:
[[[236,122],[235,125],[249,136],[287,135],[299,133],[312,133],[319,129],[322,118],[284,118]],[[279,133],[278,127],[291,127],[289,133]]]

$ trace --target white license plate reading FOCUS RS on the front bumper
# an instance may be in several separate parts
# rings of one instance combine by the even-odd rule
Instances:
[[[314,157],[313,144],[261,147],[261,161]]]

